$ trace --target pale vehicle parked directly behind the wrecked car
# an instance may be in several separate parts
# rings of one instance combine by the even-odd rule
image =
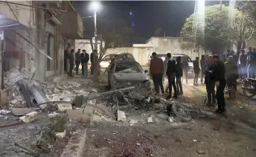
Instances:
[[[103,60],[100,62],[100,67],[108,68],[109,63],[115,57],[115,55],[118,56],[118,60],[135,60],[132,54],[107,54],[105,57],[103,57]]]

